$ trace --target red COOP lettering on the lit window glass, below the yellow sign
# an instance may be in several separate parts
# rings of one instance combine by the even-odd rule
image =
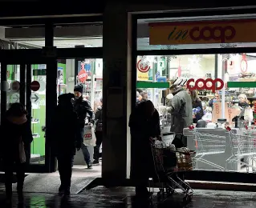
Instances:
[[[224,87],[224,82],[220,78],[198,78],[197,81],[190,78],[187,81],[186,86],[189,90],[211,90],[215,93],[216,90],[221,90]]]

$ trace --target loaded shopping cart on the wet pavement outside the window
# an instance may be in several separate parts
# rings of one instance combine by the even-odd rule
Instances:
[[[157,175],[157,182],[161,183],[160,191],[157,193],[157,199],[165,200],[174,193],[181,194],[185,202],[191,200],[193,190],[188,182],[178,177],[181,171],[192,170],[194,152],[178,152],[171,150],[165,145],[165,142],[152,142],[152,155]],[[178,158],[177,158],[178,157]]]

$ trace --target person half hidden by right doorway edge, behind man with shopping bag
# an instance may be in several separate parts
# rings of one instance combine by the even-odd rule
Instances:
[[[100,106],[97,107],[95,112],[95,136],[96,136],[96,146],[94,147],[94,154],[93,158],[94,161],[92,162],[93,165],[100,165],[99,159],[101,158],[100,154],[100,146],[103,139],[103,123],[102,123],[102,98],[100,98]]]

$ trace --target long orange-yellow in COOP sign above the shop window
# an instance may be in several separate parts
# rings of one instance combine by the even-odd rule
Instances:
[[[256,20],[149,23],[149,45],[256,42]]]

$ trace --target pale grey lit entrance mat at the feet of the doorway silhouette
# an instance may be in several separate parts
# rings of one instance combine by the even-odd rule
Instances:
[[[81,190],[94,180],[92,177],[72,177],[71,194],[78,194]],[[29,174],[25,178],[24,192],[26,193],[58,193],[60,186],[59,176],[49,174]],[[17,184],[13,185],[16,190]]]

